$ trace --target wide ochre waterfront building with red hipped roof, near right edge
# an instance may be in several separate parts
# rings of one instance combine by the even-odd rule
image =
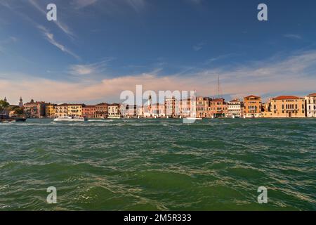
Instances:
[[[305,99],[297,96],[272,98],[272,117],[305,117]]]

